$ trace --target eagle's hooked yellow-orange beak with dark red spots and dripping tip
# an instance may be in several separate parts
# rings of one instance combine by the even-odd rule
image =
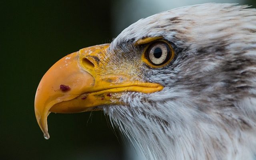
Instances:
[[[77,113],[96,106],[122,104],[113,93],[126,91],[152,93],[162,90],[160,84],[132,81],[127,74],[106,74],[102,66],[109,44],[92,46],[60,59],[43,76],[35,97],[36,120],[49,139],[47,116],[50,112]],[[100,65],[101,64],[101,65]]]

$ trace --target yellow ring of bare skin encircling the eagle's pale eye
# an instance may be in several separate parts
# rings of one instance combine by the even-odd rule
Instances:
[[[148,60],[148,58],[146,58],[146,53],[147,53],[147,51],[148,51],[148,48],[151,46],[152,43],[154,43],[154,42],[152,42],[152,41],[144,48],[141,58],[142,58],[142,61],[145,62],[148,66],[150,66],[150,67],[152,67],[152,68],[161,68],[161,67],[164,67],[166,64],[169,64],[169,63],[173,60],[174,55],[175,55],[175,52],[174,52],[174,49],[172,48],[172,46],[170,45],[170,43],[168,43],[166,40],[163,40],[163,39],[161,39],[161,40],[156,39],[156,42],[164,42],[164,43],[166,43],[166,44],[169,46],[170,51],[171,51],[170,59],[169,59],[167,62],[165,62],[164,64],[159,65],[159,66],[156,66],[156,65],[152,64],[152,63]]]

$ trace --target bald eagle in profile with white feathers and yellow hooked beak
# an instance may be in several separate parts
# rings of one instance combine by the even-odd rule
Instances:
[[[37,122],[103,110],[148,160],[252,160],[256,10],[200,4],[138,20],[43,76]]]

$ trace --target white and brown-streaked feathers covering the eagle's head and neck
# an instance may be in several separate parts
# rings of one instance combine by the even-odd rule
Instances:
[[[149,160],[252,160],[256,10],[210,3],[141,19],[111,43],[110,52],[127,54],[113,63],[136,57],[136,40],[152,36],[171,42],[177,57],[160,69],[140,66],[143,74],[134,79],[160,83],[164,89],[125,92],[121,100],[127,106],[104,106],[112,124]]]

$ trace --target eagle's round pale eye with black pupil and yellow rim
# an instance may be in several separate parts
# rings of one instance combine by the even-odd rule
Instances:
[[[164,41],[149,44],[144,53],[144,57],[152,67],[162,67],[174,58],[172,47]]]

